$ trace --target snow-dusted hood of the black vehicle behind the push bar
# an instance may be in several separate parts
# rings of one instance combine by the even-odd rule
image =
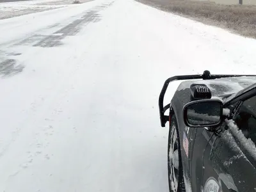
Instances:
[[[212,80],[189,80],[180,83],[177,90],[184,90],[190,88],[191,84],[206,84],[211,92],[212,97],[225,97],[225,95],[230,95],[232,93],[237,93],[248,86],[256,83],[256,77],[228,77]]]

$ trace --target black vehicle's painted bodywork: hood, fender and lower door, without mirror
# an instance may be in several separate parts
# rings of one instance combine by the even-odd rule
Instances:
[[[217,192],[256,191],[256,184],[253,182],[256,170],[255,164],[248,161],[243,146],[239,146],[241,143],[237,143],[236,136],[226,130],[225,122],[218,127],[219,134],[202,127],[186,127],[183,108],[194,100],[191,97],[191,84],[206,84],[212,92],[212,98],[218,97],[225,104],[255,88],[255,83],[256,77],[192,80],[180,83],[174,93],[170,106],[177,116],[179,126],[182,167],[184,177],[187,177],[184,179],[190,181],[193,192],[211,191],[209,188],[214,185],[212,190],[218,190]],[[234,105],[227,107],[234,110]],[[184,144],[186,142],[188,146]]]

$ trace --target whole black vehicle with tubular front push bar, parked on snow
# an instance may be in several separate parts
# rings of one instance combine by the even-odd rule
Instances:
[[[163,106],[175,80],[189,81],[180,83]],[[256,191],[256,76],[205,71],[170,77],[159,96],[159,112],[161,126],[170,126],[170,191]]]

